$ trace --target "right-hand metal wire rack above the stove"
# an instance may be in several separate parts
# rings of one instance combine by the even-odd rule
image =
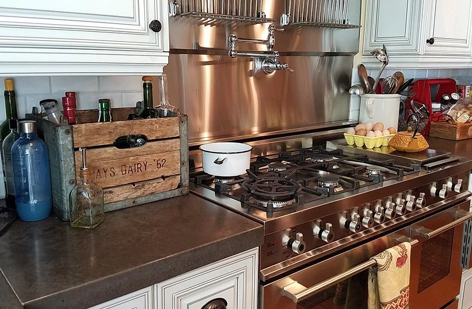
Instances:
[[[281,26],[352,29],[348,20],[349,0],[285,0]]]

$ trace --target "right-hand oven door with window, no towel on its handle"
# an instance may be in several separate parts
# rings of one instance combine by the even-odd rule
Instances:
[[[410,309],[440,308],[460,290],[462,225],[472,217],[467,200],[411,225]]]

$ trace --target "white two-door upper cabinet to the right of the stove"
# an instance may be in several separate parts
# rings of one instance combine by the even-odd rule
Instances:
[[[363,63],[387,46],[389,68],[472,67],[470,0],[367,0]],[[431,40],[431,38],[433,40]]]

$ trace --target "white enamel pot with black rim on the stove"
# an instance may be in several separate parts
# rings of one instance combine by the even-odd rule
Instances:
[[[252,146],[239,142],[213,142],[200,146],[203,171],[219,177],[246,174]]]

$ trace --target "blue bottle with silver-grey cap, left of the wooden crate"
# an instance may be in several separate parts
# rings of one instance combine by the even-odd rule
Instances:
[[[18,122],[20,138],[12,147],[17,212],[23,221],[39,221],[51,214],[48,150],[36,134],[36,121]]]

